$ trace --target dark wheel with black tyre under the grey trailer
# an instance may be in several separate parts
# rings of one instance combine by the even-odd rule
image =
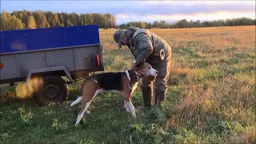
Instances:
[[[58,76],[42,78],[43,84],[33,94],[39,106],[46,106],[50,102],[64,102],[69,94],[66,82]]]

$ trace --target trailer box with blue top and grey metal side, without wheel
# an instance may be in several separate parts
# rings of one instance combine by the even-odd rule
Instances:
[[[0,36],[0,83],[28,80],[31,71],[60,67],[70,74],[58,75],[73,79],[104,70],[98,25],[2,30]]]

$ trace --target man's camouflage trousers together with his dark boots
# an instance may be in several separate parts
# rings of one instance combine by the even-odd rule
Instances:
[[[167,82],[170,77],[170,62],[171,62],[171,49],[167,50],[166,57],[161,60],[157,58],[157,61],[146,60],[150,65],[158,70],[158,75],[155,77],[147,76],[142,78],[142,94],[144,99],[144,105],[151,106],[153,97],[153,82],[154,82],[154,96],[155,104],[166,100],[166,90],[168,88]]]

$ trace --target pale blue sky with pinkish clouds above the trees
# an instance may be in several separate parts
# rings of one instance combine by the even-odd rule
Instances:
[[[226,18],[255,18],[255,1],[14,1],[1,0],[1,12],[6,10],[51,10],[53,12],[110,13],[117,24],[165,20],[213,21]]]

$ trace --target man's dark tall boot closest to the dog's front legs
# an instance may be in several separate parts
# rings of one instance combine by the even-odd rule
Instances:
[[[144,107],[151,107],[152,92],[153,92],[152,86],[142,86]]]

